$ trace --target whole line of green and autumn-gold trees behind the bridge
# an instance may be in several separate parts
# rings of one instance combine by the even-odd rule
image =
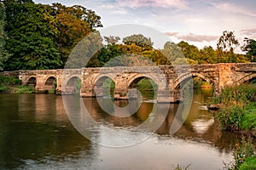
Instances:
[[[0,3],[0,71],[63,68],[73,48],[97,27],[101,17],[93,10],[61,3],[36,4],[32,0],[5,0]],[[188,42],[166,42],[154,49],[149,37],[131,35],[104,37],[106,45],[81,66],[171,65],[255,62],[256,41],[245,38],[241,49],[233,31],[224,31],[217,49],[199,49]],[[103,39],[100,38],[100,41]],[[101,42],[102,43],[102,42]]]

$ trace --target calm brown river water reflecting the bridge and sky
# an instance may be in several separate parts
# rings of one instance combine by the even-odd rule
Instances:
[[[103,111],[96,99],[84,98],[96,122],[96,127],[87,129],[90,139],[86,139],[70,122],[62,96],[0,95],[0,169],[170,170],[177,164],[190,164],[189,169],[196,170],[221,169],[223,161],[232,161],[231,150],[239,136],[218,130],[214,112],[205,105],[211,97],[212,92],[195,91],[189,116],[174,134],[170,127],[177,104],[170,105],[164,122],[154,132],[134,132],[134,127],[148,120],[154,101],[145,100],[134,115],[119,118]],[[115,104],[127,105],[125,101]],[[137,144],[108,144],[141,136],[147,138]]]

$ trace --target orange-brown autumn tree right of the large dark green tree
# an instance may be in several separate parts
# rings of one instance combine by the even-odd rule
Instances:
[[[94,28],[102,27],[101,17],[96,15],[94,11],[79,5],[66,7],[61,3],[53,3],[52,8],[55,10],[54,17],[60,32],[57,42],[61,60],[65,64],[78,42],[95,31]]]

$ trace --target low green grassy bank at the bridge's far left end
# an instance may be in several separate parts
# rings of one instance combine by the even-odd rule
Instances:
[[[18,77],[3,77],[0,75],[0,94],[32,94],[33,87],[21,86]]]

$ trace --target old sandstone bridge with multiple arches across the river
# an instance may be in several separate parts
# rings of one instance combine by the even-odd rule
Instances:
[[[83,97],[101,96],[103,82],[111,78],[115,83],[114,99],[137,98],[137,82],[148,77],[158,85],[155,89],[158,102],[177,102],[182,100],[183,84],[194,77],[201,77],[204,81],[210,82],[214,93],[218,94],[224,86],[256,79],[256,63],[96,67],[72,70],[12,71],[3,72],[3,74],[18,76],[22,84],[35,86],[38,93],[47,92],[55,87],[57,94],[73,94],[76,82],[80,80],[79,94]]]

